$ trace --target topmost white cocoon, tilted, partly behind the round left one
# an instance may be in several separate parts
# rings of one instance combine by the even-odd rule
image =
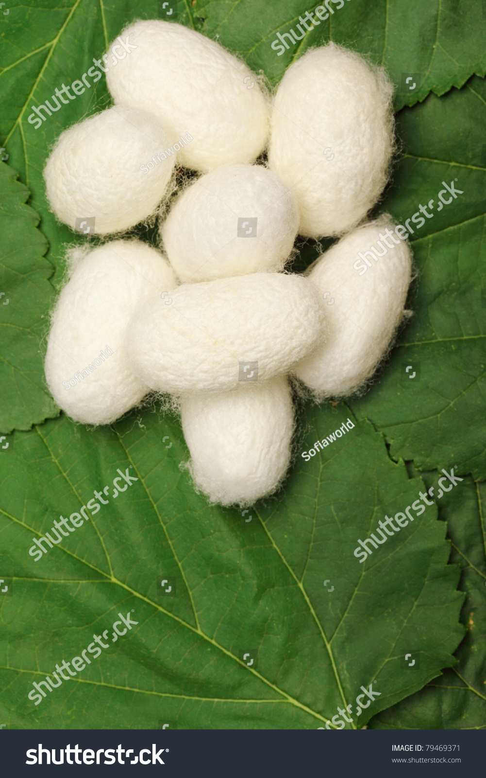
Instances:
[[[106,73],[113,100],[155,114],[171,143],[181,146],[175,150],[182,165],[206,172],[259,156],[269,107],[244,62],[172,22],[134,22],[120,37],[130,37],[134,50]],[[192,139],[179,143],[186,133]]]

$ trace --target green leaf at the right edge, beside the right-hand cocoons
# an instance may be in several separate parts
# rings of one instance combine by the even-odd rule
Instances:
[[[486,83],[474,77],[463,89],[405,108],[399,119],[404,159],[380,209],[404,224],[432,202],[424,226],[410,223],[414,315],[371,391],[350,406],[385,433],[393,457],[420,470],[456,467],[484,478]],[[449,195],[443,182],[463,194]],[[440,191],[450,201],[442,209]]]

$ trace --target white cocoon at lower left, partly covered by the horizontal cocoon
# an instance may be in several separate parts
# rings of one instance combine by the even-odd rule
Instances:
[[[123,338],[134,310],[173,286],[168,261],[137,240],[78,258],[52,314],[45,362],[50,392],[71,419],[110,424],[148,392],[130,370]]]

